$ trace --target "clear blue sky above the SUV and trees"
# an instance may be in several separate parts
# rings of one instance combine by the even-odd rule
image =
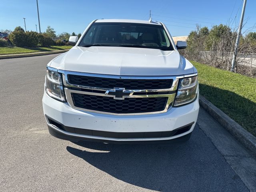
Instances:
[[[126,18],[164,22],[172,36],[185,36],[196,24],[239,23],[242,0],[38,0],[41,31],[50,25],[56,34],[82,33],[94,19]],[[256,25],[256,0],[247,0],[244,30]],[[36,31],[36,0],[6,0],[0,4],[0,30],[16,26]],[[252,29],[256,32],[256,28]],[[39,30],[38,30],[39,31]]]

